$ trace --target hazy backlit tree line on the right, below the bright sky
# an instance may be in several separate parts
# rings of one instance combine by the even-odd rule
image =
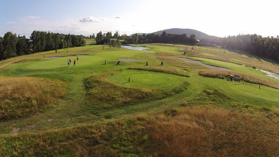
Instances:
[[[276,38],[257,34],[228,36],[222,40],[222,46],[279,61],[279,36]]]

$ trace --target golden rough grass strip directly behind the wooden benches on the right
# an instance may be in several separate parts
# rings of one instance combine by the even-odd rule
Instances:
[[[246,82],[262,84],[279,89],[279,84],[277,82],[231,70],[206,69],[200,70],[199,75],[210,78],[226,78],[227,75],[239,75],[242,77],[242,75],[244,75],[244,81]]]

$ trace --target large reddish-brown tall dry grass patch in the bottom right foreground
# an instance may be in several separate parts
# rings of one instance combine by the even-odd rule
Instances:
[[[187,108],[146,127],[157,157],[278,157],[279,124],[226,109]]]

